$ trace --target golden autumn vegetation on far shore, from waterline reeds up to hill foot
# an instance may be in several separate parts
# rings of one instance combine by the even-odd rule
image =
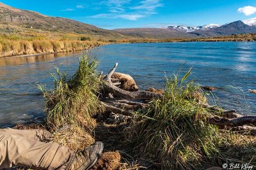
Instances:
[[[0,25],[0,57],[35,53],[74,52],[108,43],[154,43],[188,41],[255,41],[256,34],[237,34],[214,38],[151,39],[132,36],[94,36],[68,32],[40,31]]]

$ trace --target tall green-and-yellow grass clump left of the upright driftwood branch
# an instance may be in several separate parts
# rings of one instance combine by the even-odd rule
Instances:
[[[50,127],[65,124],[77,124],[88,129],[94,127],[91,116],[101,110],[97,97],[100,80],[96,67],[97,61],[84,55],[71,78],[56,69],[57,75],[52,74],[54,89],[45,90],[40,86],[45,98],[46,121]]]

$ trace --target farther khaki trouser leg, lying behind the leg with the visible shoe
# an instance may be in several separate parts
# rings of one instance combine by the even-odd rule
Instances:
[[[17,129],[0,129],[0,135],[16,135],[28,139],[33,139],[36,141],[44,141],[45,139],[49,139],[51,137],[51,133],[42,129],[35,130],[17,130]]]

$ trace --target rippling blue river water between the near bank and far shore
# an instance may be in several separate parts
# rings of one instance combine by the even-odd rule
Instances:
[[[0,127],[42,120],[44,99],[37,88],[51,89],[54,66],[74,74],[81,53],[55,53],[0,59]],[[140,86],[164,88],[164,76],[192,67],[190,80],[217,87],[209,101],[244,115],[256,115],[256,43],[138,43],[106,45],[89,54],[100,60],[99,70],[131,74]]]

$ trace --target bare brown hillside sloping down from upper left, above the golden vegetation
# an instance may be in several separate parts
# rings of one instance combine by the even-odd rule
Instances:
[[[35,11],[19,10],[0,3],[0,24],[15,25],[27,29],[40,29],[51,32],[74,32],[103,38],[125,38],[127,35],[100,29],[93,25],[60,17],[48,17]]]

